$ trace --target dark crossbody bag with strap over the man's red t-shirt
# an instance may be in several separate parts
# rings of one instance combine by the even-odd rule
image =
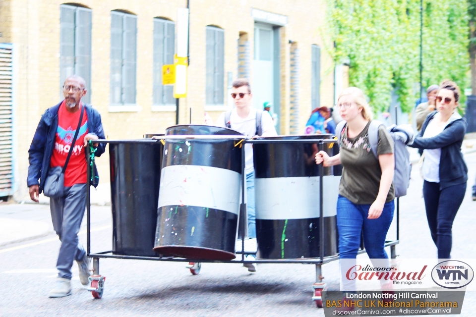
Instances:
[[[83,121],[83,113],[85,110],[86,108],[83,107],[81,111],[81,115],[79,116],[78,127],[76,128],[76,133],[74,133],[73,142],[71,143],[71,147],[69,148],[68,157],[66,158],[66,161],[64,162],[64,166],[63,167],[56,166],[56,167],[50,168],[50,170],[48,171],[48,176],[45,181],[45,188],[43,189],[43,194],[47,197],[50,197],[50,198],[63,197],[64,171],[66,170],[66,166],[68,166],[69,158],[71,157],[71,154],[73,153],[74,143],[76,142],[76,139],[78,137],[79,128],[81,128],[81,121]]]

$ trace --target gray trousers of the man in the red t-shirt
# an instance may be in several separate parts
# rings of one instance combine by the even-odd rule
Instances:
[[[86,184],[64,187],[64,196],[50,199],[53,228],[60,237],[61,247],[56,267],[58,277],[71,279],[74,260],[84,258],[86,251],[79,244],[78,232],[86,209]]]

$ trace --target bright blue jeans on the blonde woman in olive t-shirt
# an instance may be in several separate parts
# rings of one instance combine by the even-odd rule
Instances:
[[[384,205],[377,219],[368,219],[370,205],[357,205],[339,195],[337,199],[337,228],[339,230],[339,256],[355,259],[363,232],[363,245],[370,259],[388,259],[385,237],[392,223],[394,201]]]

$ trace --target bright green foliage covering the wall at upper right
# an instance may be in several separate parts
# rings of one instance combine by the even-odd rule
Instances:
[[[327,0],[328,48],[350,58],[349,81],[375,111],[387,111],[395,90],[405,112],[419,98],[420,1]],[[423,86],[445,78],[465,86],[469,69],[466,0],[424,0]]]

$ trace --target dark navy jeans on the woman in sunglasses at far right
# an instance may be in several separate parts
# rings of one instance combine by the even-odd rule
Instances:
[[[426,219],[430,227],[431,238],[438,248],[438,259],[450,259],[451,227],[456,212],[463,202],[466,183],[440,190],[440,183],[423,182]]]

